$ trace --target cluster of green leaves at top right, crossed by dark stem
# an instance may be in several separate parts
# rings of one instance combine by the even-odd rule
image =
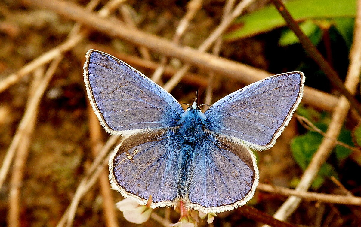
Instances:
[[[319,30],[319,21],[326,21],[334,26],[344,37],[348,45],[351,45],[353,18],[356,15],[356,0],[294,0],[285,3],[293,18],[302,25],[307,35],[322,34]],[[246,14],[233,25],[233,30],[225,34],[227,41],[251,37],[257,34],[283,27],[286,22],[281,17],[274,5]],[[317,29],[318,28],[318,29]],[[350,36],[351,33],[351,36]],[[281,45],[289,45],[298,42],[296,36],[286,31],[282,37]],[[317,35],[315,41],[317,41]],[[322,35],[321,35],[322,36]]]

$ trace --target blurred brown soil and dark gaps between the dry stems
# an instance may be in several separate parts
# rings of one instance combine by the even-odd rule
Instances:
[[[88,4],[88,0],[71,0],[71,2],[83,7]],[[106,0],[100,0],[95,10],[99,10],[106,3]],[[139,29],[171,40],[179,21],[187,12],[187,3],[186,0],[129,0],[123,4],[126,6],[123,9],[127,10],[126,17],[129,18],[125,17],[120,6],[112,15],[122,21],[130,19]],[[262,8],[268,3],[267,0],[255,1],[244,14]],[[204,1],[182,36],[181,45],[197,48],[219,25],[224,5],[223,0]],[[17,0],[0,0],[0,79],[17,72],[33,59],[62,44],[73,25],[74,21],[51,10],[31,7]],[[90,48],[99,49],[126,62],[132,56],[154,63],[159,63],[162,58],[160,53],[149,50],[146,52],[149,55],[144,55],[139,46],[122,39],[112,38],[87,28],[83,30],[86,31],[84,39],[64,53],[64,58],[56,67],[55,74],[41,98],[36,113],[35,129],[30,136],[29,153],[25,157],[26,164],[22,169],[23,181],[19,185],[21,189],[18,206],[19,226],[56,226],[93,161],[88,100],[82,70],[86,51]],[[273,74],[299,70],[299,62],[311,62],[301,46],[279,46],[277,42],[280,32],[280,29],[276,29],[242,40],[223,42],[220,55]],[[335,68],[338,69],[340,75],[345,75],[348,52],[344,48],[337,48],[344,44],[333,43],[332,45],[335,46],[335,52],[332,54]],[[321,52],[325,53],[322,43],[320,46]],[[130,64],[145,75],[153,74],[153,67]],[[169,60],[169,67],[174,69],[173,71],[181,64],[182,62],[178,59],[170,58]],[[308,66],[309,73],[318,70],[313,63],[309,63]],[[33,73],[22,77],[20,81],[1,93],[0,160],[4,160],[23,117],[29,93],[31,93],[29,88],[32,81],[39,75],[43,75],[46,69],[47,67],[44,66],[37,67]],[[192,67],[190,72],[192,74],[188,74],[187,79],[182,80],[171,91],[180,103],[191,103],[197,89],[200,99],[205,100],[208,72],[196,67]],[[163,76],[159,84],[166,83],[170,74],[172,72]],[[309,76],[307,72],[305,74]],[[192,75],[197,77],[193,80]],[[306,80],[306,83],[325,92],[338,94],[330,87],[325,77],[321,76],[318,80]],[[245,85],[237,79],[232,80],[229,77],[216,75],[213,81],[212,103]],[[349,119],[351,119],[348,121],[349,125],[356,124],[355,118]],[[290,153],[290,141],[296,135],[305,132],[306,130],[294,118],[271,150],[257,153],[260,182],[288,188],[295,187],[295,182],[303,171],[293,160]],[[106,141],[108,137],[109,135],[101,130],[101,141]],[[20,144],[22,142],[24,141]],[[331,163],[335,163],[334,156],[331,155],[329,159]],[[14,170],[14,165],[11,165],[3,187],[0,189],[0,226],[9,226],[10,178]],[[351,190],[353,195],[359,196],[360,166],[355,161],[346,159],[336,171],[339,181]],[[329,178],[317,190],[317,192],[334,194],[339,194],[339,191],[340,187]],[[114,202],[122,199],[116,191],[111,191],[111,193]],[[272,215],[286,198],[287,196],[257,190],[254,199],[248,205]],[[81,200],[73,226],[107,226],[104,221],[102,202],[99,184],[95,184]],[[155,212],[163,216],[166,209],[160,208]],[[116,218],[119,226],[136,226],[127,222],[118,210]],[[175,223],[178,218],[179,214],[174,210],[171,211],[169,221]],[[360,219],[359,206],[306,200],[301,202],[300,207],[287,222],[315,227],[360,226]],[[260,224],[243,217],[234,210],[218,214],[213,226],[259,226]],[[151,219],[142,225],[159,226],[160,224]],[[206,222],[200,224],[200,226],[206,225]]]

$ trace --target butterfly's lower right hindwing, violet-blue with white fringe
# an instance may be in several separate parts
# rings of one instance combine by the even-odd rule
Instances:
[[[253,197],[258,168],[253,152],[243,144],[212,134],[198,144],[194,162],[188,192],[192,209],[220,213]]]

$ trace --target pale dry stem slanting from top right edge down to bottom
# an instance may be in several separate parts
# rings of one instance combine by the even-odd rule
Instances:
[[[355,30],[353,37],[353,44],[350,53],[350,64],[348,67],[347,77],[345,80],[345,87],[354,94],[360,79],[361,71],[361,0],[358,0],[357,15],[355,21]],[[335,147],[335,140],[342,128],[343,122],[347,116],[350,108],[350,103],[345,97],[341,97],[338,105],[332,114],[331,123],[326,132],[326,137],[323,138],[321,145],[316,153],[313,155],[310,164],[305,170],[300,179],[296,191],[306,191],[313,182],[319,168],[325,163],[332,149]],[[274,214],[274,217],[279,220],[285,220],[289,217],[299,206],[301,199],[299,197],[291,196],[279,210]]]

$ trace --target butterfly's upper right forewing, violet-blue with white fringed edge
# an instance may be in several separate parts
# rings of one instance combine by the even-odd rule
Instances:
[[[267,77],[227,95],[204,113],[209,130],[240,139],[256,150],[270,148],[301,102],[302,72]]]

